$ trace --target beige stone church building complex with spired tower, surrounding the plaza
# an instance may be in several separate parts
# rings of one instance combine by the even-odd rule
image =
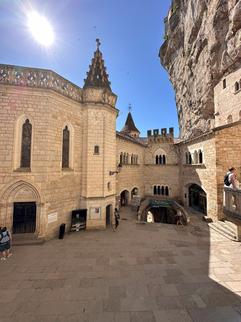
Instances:
[[[223,198],[227,168],[240,169],[240,79],[237,70],[215,87],[212,129],[184,141],[173,128],[140,137],[131,113],[116,131],[98,43],[83,88],[50,70],[0,65],[0,225],[47,239],[61,223],[69,230],[76,211],[87,229],[105,229],[115,207],[137,199],[214,220],[240,214],[239,192]]]

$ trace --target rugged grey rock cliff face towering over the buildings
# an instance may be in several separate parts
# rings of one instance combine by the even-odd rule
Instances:
[[[212,128],[213,88],[241,67],[241,0],[173,0],[165,23],[160,58],[188,139]]]

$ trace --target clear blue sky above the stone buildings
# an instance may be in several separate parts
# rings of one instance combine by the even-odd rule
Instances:
[[[175,127],[175,97],[158,51],[171,0],[0,0],[0,63],[52,69],[79,86],[89,68],[95,39],[118,95],[117,129],[128,105],[142,135],[148,129]],[[26,26],[26,12],[44,14],[55,31],[54,45],[42,48]]]

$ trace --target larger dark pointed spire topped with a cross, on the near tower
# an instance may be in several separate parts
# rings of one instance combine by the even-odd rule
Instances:
[[[84,88],[87,87],[99,87],[106,88],[111,91],[109,75],[106,72],[105,62],[102,58],[102,52],[100,51],[100,40],[96,39],[97,49],[92,58],[90,70],[87,72],[87,78],[85,79]]]

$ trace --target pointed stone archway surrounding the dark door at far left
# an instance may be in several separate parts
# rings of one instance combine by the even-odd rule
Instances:
[[[13,231],[13,224],[15,220],[14,230],[16,232],[16,222],[21,216],[28,220],[29,209],[32,209],[31,216],[31,229],[18,228],[18,232],[32,232],[35,236],[43,234],[44,229],[44,217],[41,216],[41,198],[38,190],[33,184],[19,180],[7,189],[1,196],[1,209],[0,209],[0,224],[5,225],[11,231]],[[35,212],[33,214],[33,211]],[[26,212],[23,214],[23,212]],[[41,220],[40,220],[41,218]],[[30,223],[29,223],[30,224]],[[33,227],[34,225],[34,227]]]

